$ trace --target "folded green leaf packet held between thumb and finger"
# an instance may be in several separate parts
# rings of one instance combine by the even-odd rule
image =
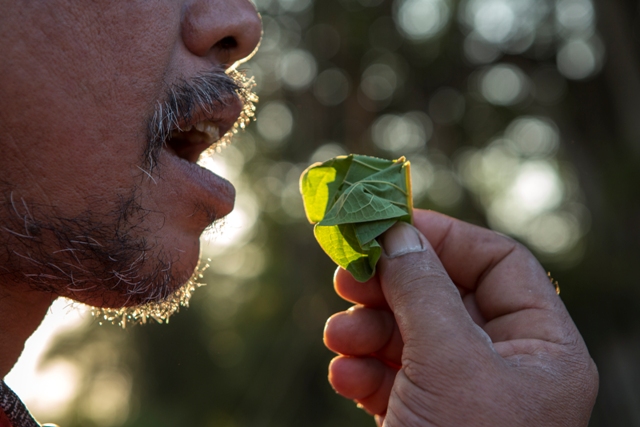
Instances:
[[[381,248],[375,240],[397,221],[411,222],[409,162],[351,154],[311,165],[300,192],[318,243],[331,259],[365,282]]]

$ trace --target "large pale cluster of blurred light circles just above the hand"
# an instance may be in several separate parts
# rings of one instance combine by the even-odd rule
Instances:
[[[491,227],[548,254],[571,251],[589,227],[573,214],[579,193],[570,189],[573,171],[555,161],[559,146],[553,121],[521,116],[486,148],[457,158],[461,180]]]

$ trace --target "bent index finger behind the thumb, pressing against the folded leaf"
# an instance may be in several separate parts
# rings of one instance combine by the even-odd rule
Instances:
[[[530,309],[564,312],[545,270],[516,241],[433,211],[414,210],[414,225],[452,281],[475,293],[487,321]]]

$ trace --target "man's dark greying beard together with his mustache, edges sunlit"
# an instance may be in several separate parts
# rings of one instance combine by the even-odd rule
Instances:
[[[215,71],[168,87],[148,119],[147,145],[137,167],[152,179],[151,174],[161,176],[157,159],[171,127],[234,96],[243,101],[242,113],[209,152],[229,143],[253,117],[253,86],[237,71]],[[188,306],[201,286],[203,268],[182,273],[172,268],[180,254],[153,243],[160,230],[145,221],[154,212],[143,207],[141,191],[135,186],[111,200],[87,197],[93,209],[62,217],[55,214],[55,206],[25,200],[17,186],[0,181],[0,278],[86,303],[100,321],[122,327],[148,319],[168,321]],[[213,212],[208,217],[210,223],[218,220]],[[4,256],[1,248],[6,249]]]

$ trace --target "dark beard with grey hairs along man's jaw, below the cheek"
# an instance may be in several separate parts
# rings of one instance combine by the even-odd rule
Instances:
[[[145,228],[149,211],[135,192],[117,196],[118,208],[112,212],[62,218],[53,214],[55,207],[27,204],[16,200],[13,189],[5,191],[0,247],[6,248],[6,261],[0,275],[10,282],[26,281],[36,291],[78,299],[102,292],[104,305],[114,291],[125,297],[123,305],[167,299],[187,278],[174,277],[168,254],[140,237],[152,230]]]

